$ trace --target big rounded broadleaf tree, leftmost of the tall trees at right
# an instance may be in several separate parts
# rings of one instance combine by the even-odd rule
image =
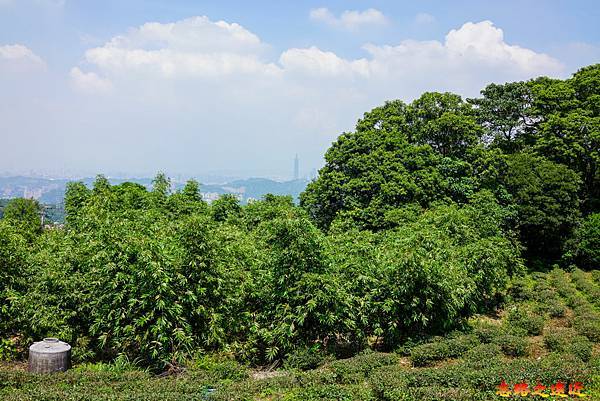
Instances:
[[[471,106],[458,95],[388,102],[332,145],[301,204],[320,227],[340,215],[382,229],[391,224],[386,214],[406,204],[464,202],[478,186],[473,162],[481,157],[481,135]]]

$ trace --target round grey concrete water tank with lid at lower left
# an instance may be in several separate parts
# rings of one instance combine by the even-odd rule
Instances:
[[[71,346],[58,338],[44,338],[29,347],[29,371],[64,372],[71,367]]]

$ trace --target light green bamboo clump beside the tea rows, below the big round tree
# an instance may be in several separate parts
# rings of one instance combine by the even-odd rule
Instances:
[[[522,271],[518,242],[503,229],[509,218],[483,192],[462,207],[409,213],[392,230],[332,230],[333,275],[355,297],[356,324],[393,348],[496,305],[509,278]]]

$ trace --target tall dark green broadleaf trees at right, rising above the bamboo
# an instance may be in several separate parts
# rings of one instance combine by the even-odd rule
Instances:
[[[382,230],[396,209],[490,189],[518,212],[528,254],[557,260],[580,216],[600,207],[599,82],[593,65],[567,80],[490,84],[467,102],[387,102],[334,142],[301,205],[323,229],[350,219]]]

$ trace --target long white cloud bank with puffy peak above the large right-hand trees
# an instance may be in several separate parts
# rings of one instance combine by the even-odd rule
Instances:
[[[488,79],[557,75],[563,70],[563,65],[548,55],[506,43],[502,30],[490,21],[468,22],[453,29],[443,43],[404,40],[398,45],[367,44],[364,49],[370,57],[356,60],[315,47],[291,49],[282,54],[280,62],[285,70],[304,70],[313,75],[385,79],[390,88],[418,89],[418,82],[421,85],[431,82],[459,92],[461,85],[463,91],[468,88],[470,92],[471,85],[481,86]]]

